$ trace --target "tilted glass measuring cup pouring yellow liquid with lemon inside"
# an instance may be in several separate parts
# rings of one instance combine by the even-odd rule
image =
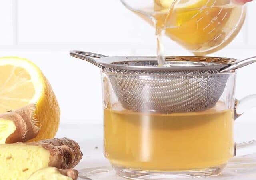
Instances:
[[[196,55],[216,52],[240,31],[246,6],[232,0],[121,0],[128,9]]]

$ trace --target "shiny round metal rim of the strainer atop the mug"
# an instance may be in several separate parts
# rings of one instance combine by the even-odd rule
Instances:
[[[174,60],[174,58],[177,60]],[[191,60],[193,59],[193,60]],[[211,60],[211,61],[210,61]],[[230,64],[236,62],[234,58],[221,58],[210,56],[166,56],[166,61],[170,62],[189,62],[189,63],[209,63],[208,66],[172,66],[172,67],[156,67],[156,66],[132,66],[126,63],[130,62],[157,62],[156,56],[112,56],[95,59],[96,63],[101,64],[104,68],[114,68],[122,70],[137,71],[195,71],[195,70],[220,70]],[[120,64],[117,64],[120,63]],[[122,64],[121,64],[122,63]]]

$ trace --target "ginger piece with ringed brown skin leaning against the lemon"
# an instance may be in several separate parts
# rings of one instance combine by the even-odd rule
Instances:
[[[0,144],[26,142],[38,135],[40,128],[33,119],[35,104],[0,114]]]

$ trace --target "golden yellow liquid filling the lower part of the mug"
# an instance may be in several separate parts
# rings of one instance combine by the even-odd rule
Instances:
[[[233,111],[174,114],[104,109],[105,156],[116,166],[191,170],[224,165],[234,155]]]

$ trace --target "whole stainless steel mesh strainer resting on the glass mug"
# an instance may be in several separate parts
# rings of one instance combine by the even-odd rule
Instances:
[[[71,56],[103,69],[122,106],[128,110],[196,112],[213,107],[222,95],[229,74],[256,62],[230,58],[166,56],[158,67],[156,56],[107,57],[72,51]],[[97,59],[94,59],[97,58]]]

